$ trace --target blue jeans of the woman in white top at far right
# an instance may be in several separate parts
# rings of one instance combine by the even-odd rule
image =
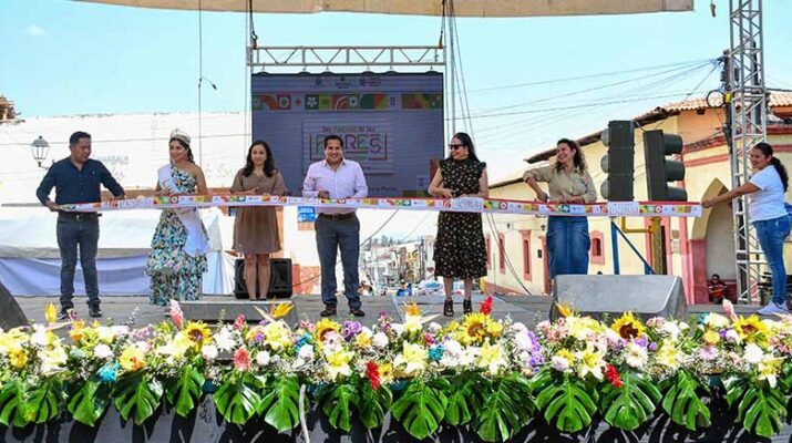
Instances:
[[[753,222],[759,245],[768,259],[773,285],[773,302],[786,306],[786,269],[784,268],[784,239],[790,235],[789,216]]]

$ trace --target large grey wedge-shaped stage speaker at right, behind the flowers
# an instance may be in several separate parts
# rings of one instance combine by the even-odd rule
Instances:
[[[688,311],[682,279],[675,276],[558,276],[553,299],[580,315],[601,319],[631,311],[646,320],[652,317],[683,319]],[[551,320],[558,318],[555,303]]]

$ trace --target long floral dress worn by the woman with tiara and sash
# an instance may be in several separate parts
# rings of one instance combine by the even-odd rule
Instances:
[[[195,194],[197,181],[189,173],[172,167],[171,178],[179,194]],[[195,214],[187,215],[197,217],[197,209],[191,210]],[[204,237],[207,237],[203,224],[200,230]],[[171,299],[200,299],[203,276],[207,270],[206,254],[188,254],[185,250],[187,234],[188,230],[176,210],[162,212],[145,268],[146,275],[151,277],[152,305],[167,306]]]

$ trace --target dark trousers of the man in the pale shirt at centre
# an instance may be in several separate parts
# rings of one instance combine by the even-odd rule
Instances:
[[[360,222],[357,216],[331,219],[317,216],[317,249],[321,265],[321,301],[328,306],[338,305],[336,298],[336,255],[341,249],[343,266],[343,291],[350,309],[360,309],[358,286],[358,258],[360,257]]]

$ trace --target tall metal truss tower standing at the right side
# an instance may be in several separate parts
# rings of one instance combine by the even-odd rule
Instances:
[[[732,187],[748,182],[749,152],[767,136],[768,95],[764,87],[762,1],[730,0],[730,52],[727,91],[731,122],[730,158]],[[738,301],[758,300],[758,284],[765,266],[757,233],[748,214],[748,199],[734,199],[734,253]]]

